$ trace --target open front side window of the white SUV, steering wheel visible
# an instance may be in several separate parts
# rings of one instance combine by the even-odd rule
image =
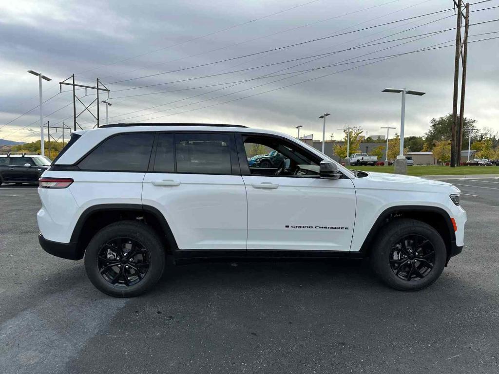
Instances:
[[[243,137],[251,175],[318,177],[318,160],[300,147],[274,137]]]

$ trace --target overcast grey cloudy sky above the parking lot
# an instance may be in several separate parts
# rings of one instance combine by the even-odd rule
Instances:
[[[44,121],[51,125],[64,120],[72,126],[70,87],[62,86],[57,94],[58,82],[72,73],[76,83],[95,85],[99,78],[111,90],[110,123],[231,123],[294,136],[295,127],[302,125],[302,135],[313,133],[319,139],[318,116],[329,112],[328,139],[332,133],[339,139],[337,128],[345,124],[360,126],[369,135],[383,134],[379,127],[387,125],[398,132],[400,94],[381,93],[384,87],[427,92],[407,97],[406,136],[423,135],[432,117],[452,112],[453,46],[384,61],[377,57],[452,45],[454,30],[408,37],[454,27],[454,11],[371,27],[450,9],[451,0],[0,1],[3,139],[39,137],[38,109],[14,120],[38,104],[37,78],[28,69],[52,78],[43,81],[43,99],[55,95],[43,105]],[[471,10],[498,5],[492,0],[471,5]],[[470,35],[499,31],[499,22],[473,25],[498,18],[499,8],[472,12]],[[361,28],[368,29],[355,31]],[[334,36],[349,31],[354,32]],[[499,32],[469,40],[496,36]],[[323,39],[281,48],[317,38]],[[274,48],[280,49],[254,55]],[[253,55],[235,58],[248,54]],[[323,55],[309,57],[317,54]],[[293,59],[299,60],[280,63]],[[466,116],[478,120],[478,127],[496,131],[498,61],[499,39],[470,43]],[[258,67],[268,64],[274,65]],[[324,68],[328,65],[335,66]],[[314,68],[320,69],[307,70]],[[192,79],[241,69],[249,70]],[[292,72],[299,73],[282,75]],[[153,74],[159,75],[140,78]],[[186,79],[191,80],[158,85]],[[123,80],[128,81],[114,83]],[[137,88],[147,85],[156,86]],[[95,99],[94,93],[89,90],[84,97],[84,90],[77,91],[85,104]],[[101,100],[106,98],[101,95]],[[76,109],[79,113],[83,107],[77,103]],[[91,120],[85,114],[79,123],[89,128]]]

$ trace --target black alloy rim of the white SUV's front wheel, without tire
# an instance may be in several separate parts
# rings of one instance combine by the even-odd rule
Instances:
[[[392,271],[401,279],[423,279],[435,265],[435,249],[423,235],[405,235],[391,248],[389,261]]]

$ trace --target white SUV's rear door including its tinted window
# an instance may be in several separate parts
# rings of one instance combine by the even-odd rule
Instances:
[[[163,213],[179,250],[246,254],[246,189],[234,134],[159,133],[155,148],[142,203]]]

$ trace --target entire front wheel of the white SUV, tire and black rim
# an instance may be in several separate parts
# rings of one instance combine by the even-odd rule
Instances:
[[[413,240],[402,243],[401,239],[407,237]],[[447,259],[445,243],[437,230],[424,222],[396,219],[379,232],[376,240],[371,252],[372,269],[385,284],[396,290],[417,291],[426,288],[434,283],[444,270]],[[419,243],[422,244],[418,249]],[[400,247],[399,250],[398,245],[404,245],[405,249]],[[416,249],[416,252],[412,248]],[[430,254],[432,249],[433,255]],[[409,251],[412,251],[410,256]],[[415,253],[418,253],[418,257],[410,259]],[[426,265],[429,261],[432,268]],[[417,275],[414,269],[423,277]]]

